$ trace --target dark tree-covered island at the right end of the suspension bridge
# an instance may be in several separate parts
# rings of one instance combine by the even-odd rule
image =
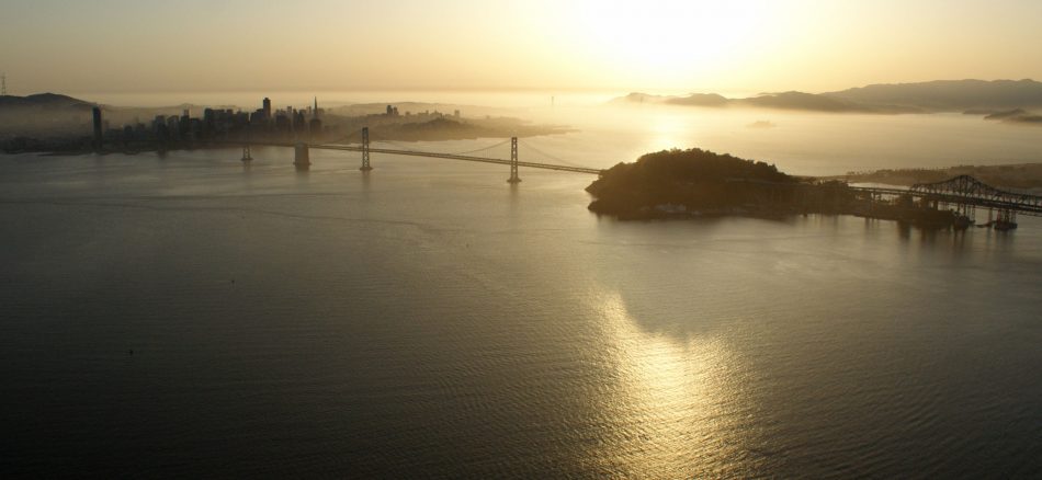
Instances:
[[[956,221],[911,197],[873,199],[840,181],[780,172],[773,164],[701,149],[662,150],[605,170],[587,188],[589,209],[621,220],[743,215],[859,215],[928,228]]]

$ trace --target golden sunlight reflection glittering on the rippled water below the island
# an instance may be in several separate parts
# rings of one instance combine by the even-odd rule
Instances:
[[[624,477],[740,475],[729,468],[748,454],[735,415],[741,375],[725,342],[643,331],[619,293],[591,302],[602,319],[596,362],[613,380],[591,399],[603,432],[591,467]]]

